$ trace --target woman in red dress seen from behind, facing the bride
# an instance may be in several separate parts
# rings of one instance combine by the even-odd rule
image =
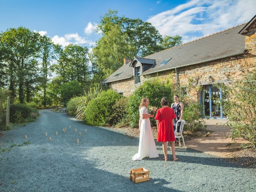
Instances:
[[[167,158],[167,142],[171,144],[173,161],[178,161],[179,159],[175,154],[175,137],[173,131],[173,122],[176,115],[174,110],[168,107],[167,98],[163,97],[161,99],[162,108],[158,109],[156,112],[156,125],[157,125],[157,142],[162,142],[163,151],[164,151],[164,161],[168,161]]]

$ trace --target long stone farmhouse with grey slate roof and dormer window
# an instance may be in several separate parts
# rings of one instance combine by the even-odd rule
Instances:
[[[210,118],[226,118],[210,97],[222,98],[215,84],[232,84],[256,69],[256,15],[246,24],[217,32],[144,58],[124,59],[124,65],[102,83],[129,96],[145,80],[170,79],[181,94],[204,104]],[[187,89],[189,82],[202,89]]]

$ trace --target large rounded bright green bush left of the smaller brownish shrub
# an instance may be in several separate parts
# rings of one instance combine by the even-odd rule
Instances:
[[[91,125],[111,125],[113,106],[122,96],[113,90],[102,91],[96,98],[90,100],[86,107],[84,121]]]

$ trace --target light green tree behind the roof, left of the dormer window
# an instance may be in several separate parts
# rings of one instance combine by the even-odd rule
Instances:
[[[134,47],[130,46],[127,34],[118,25],[112,26],[93,49],[97,65],[105,78],[122,66],[124,58],[131,58],[132,52]]]

